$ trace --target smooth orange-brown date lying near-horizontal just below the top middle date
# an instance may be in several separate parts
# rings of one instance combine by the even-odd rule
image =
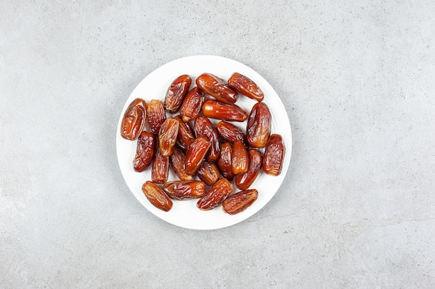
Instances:
[[[208,99],[202,105],[202,113],[211,119],[222,121],[245,121],[247,112],[242,107],[219,100]]]

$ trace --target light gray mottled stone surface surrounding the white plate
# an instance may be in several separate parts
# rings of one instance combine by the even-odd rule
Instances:
[[[1,1],[0,288],[434,288],[433,1]],[[174,227],[115,151],[140,80],[258,71],[293,129],[261,211]]]

